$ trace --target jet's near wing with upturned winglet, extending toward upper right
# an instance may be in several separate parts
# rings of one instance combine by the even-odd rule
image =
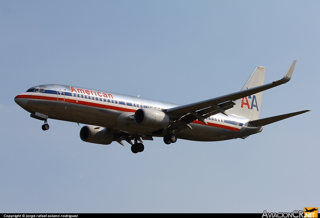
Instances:
[[[167,109],[167,113],[170,116],[171,114],[173,115],[178,115],[178,116],[184,116],[188,113],[191,113],[193,115],[195,115],[195,117],[197,116],[196,114],[199,114],[197,112],[199,112],[200,110],[203,109],[207,109],[207,108],[211,108],[211,109],[207,109],[207,111],[219,111],[218,113],[225,113],[226,109],[223,109],[220,104],[221,103],[226,103],[226,102],[230,102],[230,105],[232,104],[231,101],[235,101],[237,99],[249,96],[249,95],[253,95],[259,92],[262,92],[264,90],[268,90],[271,89],[273,87],[276,87],[278,85],[282,85],[286,82],[289,82],[291,77],[292,77],[292,73],[293,73],[293,69],[294,66],[296,65],[296,61],[294,60],[289,68],[289,70],[287,71],[287,73],[284,75],[284,77],[281,80],[272,82],[272,83],[268,83],[262,86],[257,86],[251,89],[247,89],[247,90],[243,90],[243,91],[239,91],[239,92],[234,92],[228,95],[224,95],[224,96],[220,96],[220,97],[216,97],[216,98],[211,98],[208,100],[204,100],[204,101],[199,101],[196,103],[192,103],[192,104],[188,104],[188,105],[181,105],[178,107],[173,107],[173,108],[169,108]],[[233,107],[233,106],[232,106]],[[230,107],[231,108],[231,107]],[[229,109],[229,108],[228,108]],[[201,116],[206,114],[199,114]],[[213,115],[213,114],[212,114]],[[227,115],[227,114],[226,114]],[[211,116],[211,115],[209,115]],[[207,117],[209,117],[207,116]],[[228,115],[227,115],[228,116]],[[173,116],[174,117],[174,116]],[[196,118],[198,119],[199,116],[197,116]],[[200,118],[200,117],[199,117]],[[203,117],[206,118],[206,117]],[[198,119],[199,120],[199,119]]]

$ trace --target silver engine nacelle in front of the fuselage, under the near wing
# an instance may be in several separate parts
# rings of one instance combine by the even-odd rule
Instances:
[[[134,113],[134,121],[137,125],[148,128],[165,128],[169,126],[169,116],[154,108],[140,108]]]

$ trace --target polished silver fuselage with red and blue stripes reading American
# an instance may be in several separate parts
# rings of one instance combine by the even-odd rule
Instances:
[[[144,136],[163,137],[159,129],[145,128],[126,117],[139,108],[169,109],[179,106],[163,101],[133,97],[101,90],[92,90],[66,85],[40,85],[41,92],[29,91],[15,97],[15,101],[30,113],[42,113],[50,119],[83,123]],[[230,112],[228,112],[230,113]],[[249,124],[249,119],[233,114],[216,114],[206,119],[208,125],[200,121],[190,123],[190,128],[177,135],[180,139],[193,141],[221,141],[244,138],[261,132],[262,127]]]

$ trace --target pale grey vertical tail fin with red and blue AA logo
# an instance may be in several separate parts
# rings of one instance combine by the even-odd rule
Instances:
[[[242,90],[251,89],[264,84],[266,68],[257,66],[248,81],[244,84]],[[242,91],[241,90],[241,91]],[[262,92],[236,100],[236,105],[229,109],[230,113],[249,118],[251,120],[259,119]],[[232,111],[233,110],[233,111]]]

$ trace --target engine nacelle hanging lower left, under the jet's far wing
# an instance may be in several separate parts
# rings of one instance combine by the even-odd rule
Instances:
[[[84,126],[80,130],[80,138],[84,142],[95,144],[111,144],[114,135],[107,128],[99,126]]]

